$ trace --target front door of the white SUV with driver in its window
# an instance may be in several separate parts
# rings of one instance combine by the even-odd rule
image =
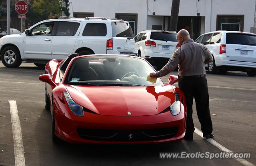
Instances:
[[[44,22],[30,29],[30,35],[24,38],[23,50],[27,60],[50,60],[52,59],[51,42],[52,33],[45,30],[54,22]]]

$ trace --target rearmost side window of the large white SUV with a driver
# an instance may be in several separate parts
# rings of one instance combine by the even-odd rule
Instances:
[[[106,36],[107,26],[103,23],[87,23],[82,36]]]

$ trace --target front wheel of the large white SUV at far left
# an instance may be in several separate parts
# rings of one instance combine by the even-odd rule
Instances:
[[[6,57],[6,59],[4,58]],[[1,60],[8,68],[17,68],[22,63],[20,51],[14,46],[8,46],[1,52]]]

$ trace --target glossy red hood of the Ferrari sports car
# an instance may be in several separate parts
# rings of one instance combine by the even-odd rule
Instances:
[[[66,88],[74,102],[100,115],[155,115],[175,100],[174,90],[170,85],[147,87],[66,85]]]

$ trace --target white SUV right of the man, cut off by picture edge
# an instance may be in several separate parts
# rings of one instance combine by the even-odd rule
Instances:
[[[213,62],[207,66],[210,74],[234,70],[256,76],[256,34],[221,30],[202,34],[195,42],[212,53]]]

